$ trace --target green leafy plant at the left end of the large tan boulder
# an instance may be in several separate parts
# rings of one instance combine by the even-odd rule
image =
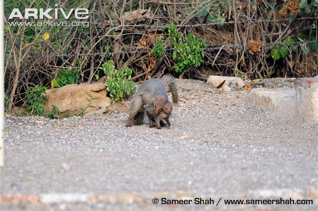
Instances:
[[[29,93],[26,95],[25,102],[28,104],[26,111],[31,115],[37,114],[39,116],[43,115],[44,108],[42,103],[45,103],[46,100],[42,94],[46,94],[47,88],[45,86],[30,86],[28,88]]]

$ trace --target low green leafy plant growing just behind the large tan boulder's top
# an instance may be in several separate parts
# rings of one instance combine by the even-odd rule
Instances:
[[[61,69],[57,72],[56,78],[52,80],[53,87],[62,87],[67,84],[76,84],[79,79],[79,72],[77,70]]]

